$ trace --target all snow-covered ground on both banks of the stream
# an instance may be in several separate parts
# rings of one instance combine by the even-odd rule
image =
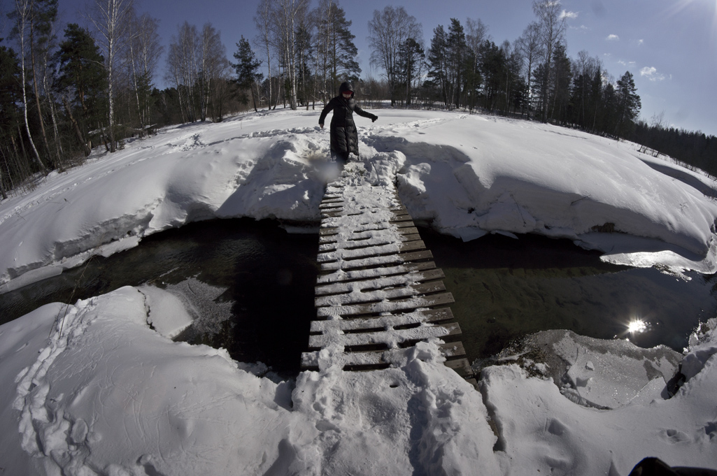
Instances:
[[[716,270],[710,178],[551,125],[374,113],[357,118],[351,174],[395,182],[442,233],[537,233],[610,262]],[[201,219],[317,224],[331,175],[317,122],[279,111],[167,128],[52,174],[0,202],[0,292]],[[384,371],[325,365],[277,381],[261,363],[172,342],[187,321],[167,292],[126,287],[1,325],[4,474],[617,476],[647,456],[717,468],[715,321],[684,356],[559,336],[547,345],[569,365],[560,386],[546,363],[505,356],[480,391],[434,343]],[[667,399],[680,361],[688,380]]]

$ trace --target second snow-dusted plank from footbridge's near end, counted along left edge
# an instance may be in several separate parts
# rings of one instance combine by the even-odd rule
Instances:
[[[309,335],[309,348],[323,348],[331,343],[338,343],[340,346],[371,346],[375,344],[395,346],[406,342],[425,341],[429,338],[452,335],[460,335],[458,323],[421,325],[417,328],[381,330],[380,332]]]

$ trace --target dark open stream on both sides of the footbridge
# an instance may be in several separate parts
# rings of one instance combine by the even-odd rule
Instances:
[[[717,277],[690,280],[654,269],[606,264],[567,240],[490,235],[473,242],[427,229],[422,238],[445,272],[470,361],[515,338],[570,329],[681,351],[701,320],[716,315]],[[74,303],[125,285],[184,295],[203,325],[178,339],[223,346],[238,361],[299,371],[315,317],[318,235],[288,234],[274,222],[212,220],[155,234],[140,246],[0,295],[0,323],[55,301]],[[214,323],[206,323],[211,316]],[[642,333],[628,333],[642,319]],[[197,321],[199,322],[199,321]]]

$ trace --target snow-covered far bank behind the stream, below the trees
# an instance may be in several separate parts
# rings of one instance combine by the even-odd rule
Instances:
[[[715,270],[711,179],[551,125],[376,113],[359,124],[361,161],[376,181],[397,179],[414,219],[440,232],[566,237],[614,262]],[[317,120],[278,111],[168,128],[2,201],[0,292],[200,219],[318,222],[329,144]]]

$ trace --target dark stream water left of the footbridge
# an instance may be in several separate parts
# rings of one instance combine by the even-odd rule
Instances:
[[[118,287],[171,287],[188,278],[226,288],[216,298],[233,316],[192,343],[227,348],[238,361],[298,371],[315,318],[318,235],[288,234],[273,222],[212,220],[143,239],[140,246],[0,295],[1,322],[52,302],[75,303]]]

